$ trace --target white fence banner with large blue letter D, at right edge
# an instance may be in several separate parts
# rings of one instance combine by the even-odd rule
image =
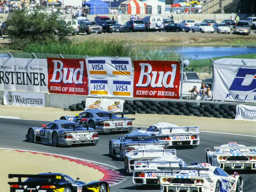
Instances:
[[[232,65],[232,62],[229,65],[214,63],[213,98],[255,103],[256,66]]]

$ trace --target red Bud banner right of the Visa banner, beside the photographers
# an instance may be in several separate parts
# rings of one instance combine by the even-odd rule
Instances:
[[[133,65],[134,97],[179,99],[179,62],[133,61]]]

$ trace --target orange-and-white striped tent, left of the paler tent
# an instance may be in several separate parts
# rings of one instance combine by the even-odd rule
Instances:
[[[147,14],[146,4],[137,0],[127,0],[121,3],[121,7],[126,7],[128,14]]]

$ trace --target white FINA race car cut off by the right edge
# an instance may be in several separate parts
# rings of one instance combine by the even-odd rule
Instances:
[[[206,149],[206,162],[224,170],[256,170],[256,147],[246,147],[235,142]]]

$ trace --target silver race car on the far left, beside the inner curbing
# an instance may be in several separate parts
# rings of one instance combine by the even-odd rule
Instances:
[[[78,124],[66,120],[54,120],[42,127],[30,127],[26,139],[31,143],[44,143],[54,147],[76,144],[96,145],[99,141],[97,131],[89,128],[87,123]]]

